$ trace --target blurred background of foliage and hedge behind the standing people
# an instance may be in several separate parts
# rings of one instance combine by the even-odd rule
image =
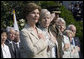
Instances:
[[[76,26],[76,36],[80,38],[81,52],[83,52],[83,1],[1,1],[1,29],[13,26],[12,10],[15,9],[17,22],[21,30],[25,24],[22,10],[24,5],[29,2],[34,2],[42,8],[58,7],[61,11],[60,17],[64,18],[67,26],[69,24]]]

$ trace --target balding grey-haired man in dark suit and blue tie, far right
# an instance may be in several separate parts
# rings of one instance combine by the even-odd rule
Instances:
[[[79,41],[78,37],[75,37],[75,35],[76,35],[76,27],[73,24],[71,24],[71,25],[68,26],[67,29],[71,30],[73,32],[73,38],[72,38],[71,44],[74,45],[74,46],[77,46],[78,52],[79,52],[79,56],[80,56],[80,41]]]

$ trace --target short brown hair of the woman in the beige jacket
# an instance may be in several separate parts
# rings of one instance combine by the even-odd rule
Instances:
[[[23,16],[24,18],[33,10],[38,9],[39,11],[41,11],[41,7],[38,6],[35,3],[28,3],[26,4],[26,6],[23,8]],[[26,18],[25,18],[26,19]]]

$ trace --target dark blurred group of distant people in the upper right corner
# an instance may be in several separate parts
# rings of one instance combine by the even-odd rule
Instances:
[[[71,4],[69,4],[68,10],[73,13],[76,21],[83,21],[83,1],[75,3],[71,2]]]

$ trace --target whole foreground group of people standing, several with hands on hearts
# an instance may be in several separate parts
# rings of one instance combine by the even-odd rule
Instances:
[[[28,3],[23,10],[24,28],[1,30],[1,58],[80,58],[76,26],[66,27],[60,12],[52,12]]]

